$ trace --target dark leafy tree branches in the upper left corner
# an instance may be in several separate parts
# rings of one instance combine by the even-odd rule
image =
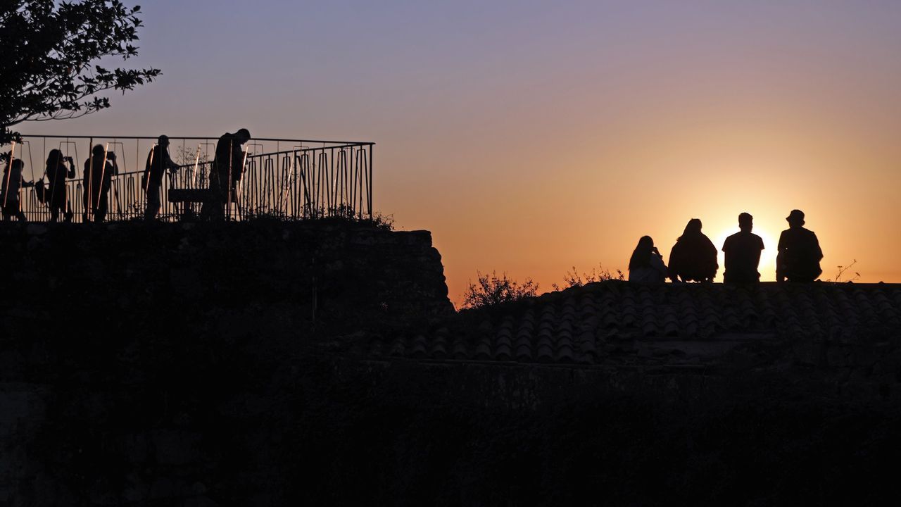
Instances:
[[[105,69],[104,57],[138,54],[141,6],[119,0],[0,0],[0,143],[24,121],[77,118],[109,107],[97,94],[131,90],[159,69]]]

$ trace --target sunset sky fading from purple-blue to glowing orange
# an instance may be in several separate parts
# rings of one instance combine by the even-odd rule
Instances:
[[[376,207],[432,231],[455,303],[642,235],[669,258],[692,217],[720,247],[742,211],[773,280],[796,207],[824,278],[901,282],[901,2],[142,4],[159,81],[23,133],[375,142]]]

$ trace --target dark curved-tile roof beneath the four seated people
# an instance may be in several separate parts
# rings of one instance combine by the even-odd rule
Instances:
[[[599,364],[628,355],[715,349],[776,336],[853,340],[901,329],[901,285],[591,283],[471,310],[415,336],[377,337],[369,355],[423,360]],[[694,344],[694,345],[691,345]],[[690,355],[690,354],[689,354]]]

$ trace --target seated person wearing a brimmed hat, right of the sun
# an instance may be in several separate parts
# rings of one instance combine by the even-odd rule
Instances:
[[[786,217],[788,228],[779,235],[776,281],[815,281],[823,272],[823,250],[814,231],[804,228],[804,212],[793,209]]]

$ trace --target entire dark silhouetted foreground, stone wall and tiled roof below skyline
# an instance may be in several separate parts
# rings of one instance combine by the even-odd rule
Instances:
[[[614,283],[453,315],[424,232],[2,236],[3,505],[897,500],[895,286]]]

